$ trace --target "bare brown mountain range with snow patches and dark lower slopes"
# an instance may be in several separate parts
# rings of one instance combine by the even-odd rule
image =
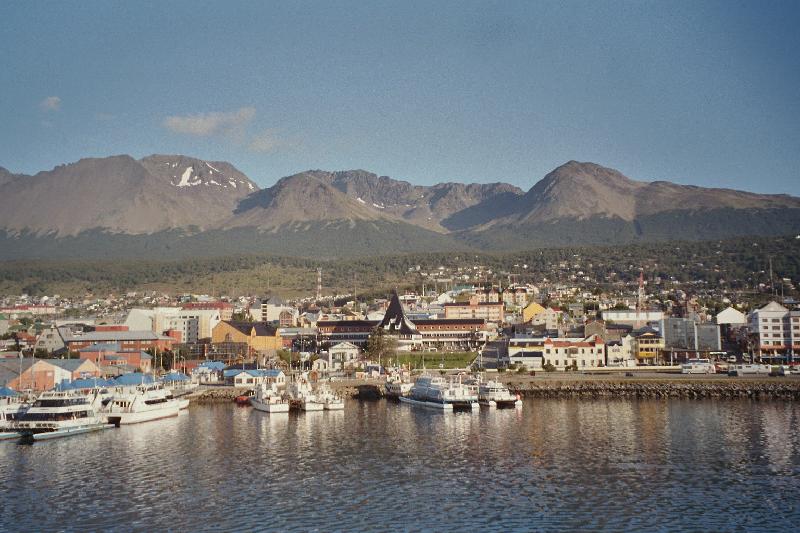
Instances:
[[[569,161],[528,191],[309,170],[261,189],[182,155],[0,167],[0,259],[276,253],[343,257],[703,240],[800,231],[800,198],[632,180]]]

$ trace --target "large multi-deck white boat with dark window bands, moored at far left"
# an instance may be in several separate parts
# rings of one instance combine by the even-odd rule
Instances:
[[[99,391],[43,392],[15,428],[27,442],[108,429],[113,425],[100,413],[101,401]]]

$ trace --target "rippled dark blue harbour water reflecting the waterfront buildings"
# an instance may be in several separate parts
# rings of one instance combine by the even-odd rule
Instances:
[[[193,406],[0,443],[0,530],[796,531],[799,418],[732,401]]]

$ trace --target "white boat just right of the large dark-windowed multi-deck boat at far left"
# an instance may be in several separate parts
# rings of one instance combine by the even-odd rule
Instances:
[[[180,401],[158,384],[116,387],[105,409],[114,425],[138,424],[178,416]]]

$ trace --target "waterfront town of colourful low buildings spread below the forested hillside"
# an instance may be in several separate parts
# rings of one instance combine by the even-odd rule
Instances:
[[[510,273],[527,268],[515,264],[501,275],[481,265],[431,272],[416,266],[407,278],[418,290],[370,299],[355,291],[325,294],[322,269],[315,272],[316,291],[294,299],[156,292],[5,297],[0,383],[37,392],[87,377],[177,371],[198,383],[252,387],[266,369],[344,379],[421,368],[680,371],[697,360],[714,372],[746,363],[794,372],[800,308],[792,280],[779,280],[783,296],[775,284],[762,283],[756,298],[737,299],[731,291],[698,298],[691,284],[644,269],[635,281],[605,291],[591,287],[577,260],[572,283],[519,282]]]

